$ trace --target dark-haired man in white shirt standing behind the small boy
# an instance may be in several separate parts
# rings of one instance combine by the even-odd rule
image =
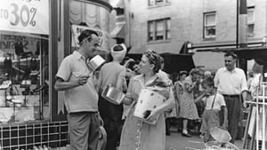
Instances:
[[[238,135],[238,126],[242,121],[242,99],[247,99],[247,79],[244,71],[235,66],[237,55],[227,52],[224,55],[225,67],[218,69],[214,76],[217,91],[223,95],[228,109],[228,130],[231,143]],[[242,99],[241,99],[242,97]]]

